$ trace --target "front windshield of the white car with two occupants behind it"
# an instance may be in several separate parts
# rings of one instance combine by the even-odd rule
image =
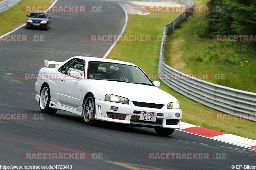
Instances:
[[[88,78],[154,86],[139,67],[117,63],[89,62]]]

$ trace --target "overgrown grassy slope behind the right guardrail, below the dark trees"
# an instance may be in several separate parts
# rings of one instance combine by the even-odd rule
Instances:
[[[206,3],[204,3],[205,5]],[[203,38],[207,13],[194,13],[166,42],[165,62],[185,73],[222,74],[223,79],[206,81],[256,92],[256,51],[254,42],[215,42]]]

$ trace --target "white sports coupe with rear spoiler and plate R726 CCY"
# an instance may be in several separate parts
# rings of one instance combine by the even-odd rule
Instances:
[[[135,64],[84,56],[44,64],[35,84],[43,113],[66,110],[83,116],[86,124],[102,120],[151,127],[164,136],[180,128],[179,101]]]

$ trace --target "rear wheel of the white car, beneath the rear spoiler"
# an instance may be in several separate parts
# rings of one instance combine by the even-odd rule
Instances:
[[[47,95],[46,95],[46,91],[47,91]],[[53,115],[57,112],[58,109],[53,109],[49,107],[50,100],[51,100],[50,88],[48,85],[43,85],[40,91],[39,107],[42,113]]]

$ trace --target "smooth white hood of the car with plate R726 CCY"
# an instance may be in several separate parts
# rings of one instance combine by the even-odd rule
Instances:
[[[130,101],[157,103],[167,105],[170,102],[178,101],[171,94],[149,85],[140,85],[125,82],[90,80],[107,91],[107,94],[114,94],[128,98]],[[105,94],[104,94],[105,95]],[[103,99],[104,100],[104,99]]]

